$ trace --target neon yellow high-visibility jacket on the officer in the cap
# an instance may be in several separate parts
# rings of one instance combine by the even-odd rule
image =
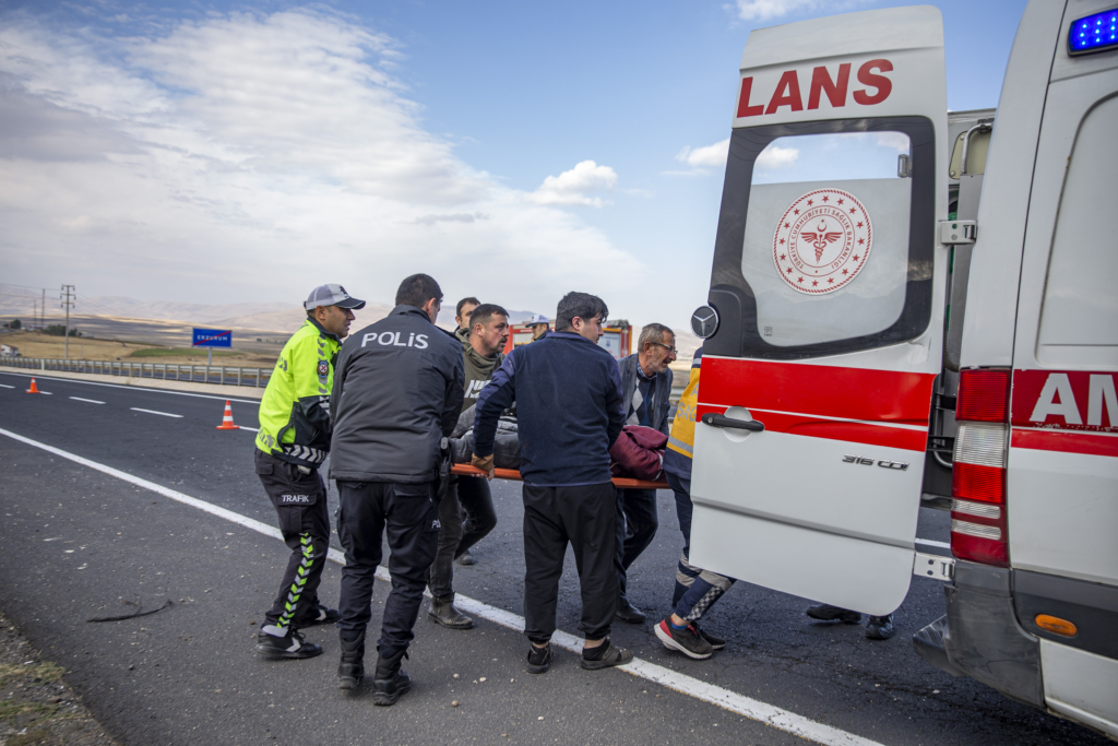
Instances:
[[[318,468],[330,452],[330,390],[341,340],[307,319],[287,340],[260,400],[256,447]]]

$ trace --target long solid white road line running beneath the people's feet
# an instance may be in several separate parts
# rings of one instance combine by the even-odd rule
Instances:
[[[133,476],[132,474],[120,471],[119,469],[113,469],[112,466],[106,466],[95,461],[83,459],[82,456],[67,451],[56,448],[45,443],[39,443],[38,441],[32,441],[29,437],[23,437],[22,435],[17,435],[16,433],[11,433],[2,428],[0,428],[0,435],[7,435],[8,437],[19,441],[20,443],[26,443],[27,445],[41,448],[48,453],[55,454],[56,456],[61,456],[63,459],[68,459],[69,461],[82,464],[83,466],[88,466],[89,469],[100,471],[103,474],[115,476],[116,479],[135,484],[136,487],[141,487],[145,490],[150,490],[157,494],[162,494],[164,498],[176,500],[192,508],[198,508],[199,510],[208,512],[211,516],[224,518],[228,521],[237,523],[238,526],[253,529],[264,536],[269,536],[281,541],[283,540],[283,535],[280,532],[280,529],[253,518],[248,518],[247,516],[235,513],[231,510],[226,510],[225,508],[220,508],[203,500],[191,498],[188,494],[155,484],[154,482],[149,482],[145,479]],[[329,559],[338,563],[339,565],[345,564],[345,557],[337,549],[330,549],[326,556]],[[390,582],[391,579],[388,572],[383,567],[377,568],[377,578],[385,582]],[[483,616],[502,626],[519,630],[521,632],[524,630],[524,617],[513,614],[512,612],[498,608],[496,606],[490,606],[484,602],[476,601],[461,594],[455,596],[454,603],[457,604],[464,612],[477,614],[479,616]],[[566,632],[557,631],[552,635],[551,641],[558,646],[574,652],[580,652],[582,650],[582,640]],[[870,740],[869,738],[862,738],[861,736],[855,736],[852,733],[846,733],[845,730],[840,730],[839,728],[816,723],[815,720],[796,715],[795,712],[789,712],[788,710],[775,707],[768,702],[762,702],[752,699],[751,697],[743,697],[728,689],[716,687],[704,681],[700,681],[699,679],[679,673],[678,671],[672,671],[663,665],[650,663],[648,661],[644,661],[639,658],[634,658],[632,663],[619,667],[618,670],[646,679],[654,683],[659,683],[663,687],[667,687],[669,689],[674,689],[680,693],[710,702],[752,720],[759,720],[765,725],[773,726],[774,728],[790,733],[795,736],[799,736],[800,738],[807,738],[817,744],[825,744],[826,746],[881,746],[878,742]]]

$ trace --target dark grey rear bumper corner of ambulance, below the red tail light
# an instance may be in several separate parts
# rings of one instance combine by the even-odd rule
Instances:
[[[1017,623],[1011,570],[956,560],[947,614],[916,633],[917,653],[951,676],[968,676],[1044,709],[1040,642]]]

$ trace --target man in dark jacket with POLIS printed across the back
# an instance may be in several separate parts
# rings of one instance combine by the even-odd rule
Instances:
[[[392,705],[411,686],[400,661],[435,558],[439,441],[462,408],[462,346],[435,325],[443,291],[425,274],[396,292],[385,319],[352,336],[338,359],[330,476],[338,482],[338,536],[345,550],[339,612],[339,686],[364,676],[364,632],[387,528],[392,589],[377,650],[372,701]]]

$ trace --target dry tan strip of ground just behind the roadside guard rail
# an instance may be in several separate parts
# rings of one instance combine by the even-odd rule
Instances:
[[[15,331],[0,334],[0,342],[19,348],[25,358],[61,359],[65,355],[66,340],[63,337],[50,337],[38,331]],[[206,365],[206,350],[191,355],[144,356],[131,357],[136,350],[157,349],[154,344],[140,342],[121,342],[89,337],[70,337],[69,357],[72,360],[124,360],[130,362],[177,362],[180,365]],[[181,348],[180,348],[181,349]],[[277,350],[278,351],[278,350]],[[193,352],[193,351],[192,351]],[[240,366],[246,368],[271,368],[276,361],[275,353],[233,350],[214,351],[215,366]]]

